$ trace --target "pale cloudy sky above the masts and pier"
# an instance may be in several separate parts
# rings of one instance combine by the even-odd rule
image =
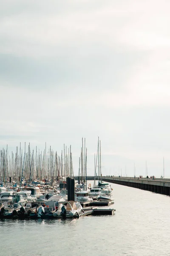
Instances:
[[[0,0],[0,150],[170,177],[170,1]],[[163,166],[164,159],[164,166]]]

